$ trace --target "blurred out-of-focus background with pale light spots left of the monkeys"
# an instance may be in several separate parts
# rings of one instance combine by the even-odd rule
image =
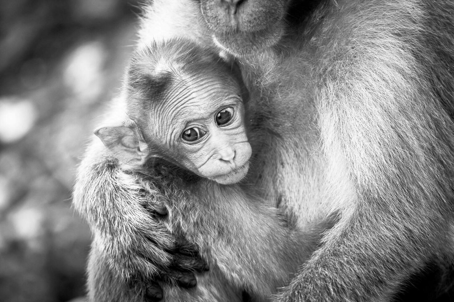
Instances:
[[[71,189],[120,87],[138,2],[0,0],[0,301],[84,296],[90,233]]]

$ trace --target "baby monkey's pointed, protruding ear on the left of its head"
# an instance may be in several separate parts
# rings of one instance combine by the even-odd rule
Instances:
[[[101,127],[93,132],[112,154],[123,163],[123,168],[141,168],[148,158],[148,146],[129,127]]]

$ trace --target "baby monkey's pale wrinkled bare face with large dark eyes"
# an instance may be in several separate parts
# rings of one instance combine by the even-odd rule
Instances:
[[[153,143],[165,142],[166,158],[221,184],[242,180],[251,146],[238,84],[212,73],[185,78],[152,108]]]

